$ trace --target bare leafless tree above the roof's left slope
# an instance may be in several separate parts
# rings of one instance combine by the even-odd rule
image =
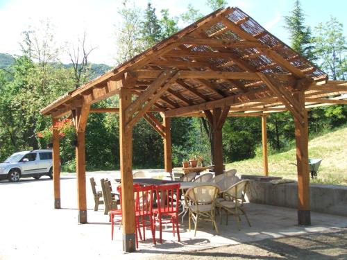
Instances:
[[[74,68],[75,87],[78,88],[81,83],[85,83],[90,76],[90,64],[88,64],[88,56],[96,47],[86,46],[86,33],[84,31],[82,40],[78,38],[77,48],[71,44],[68,49],[69,57]]]

